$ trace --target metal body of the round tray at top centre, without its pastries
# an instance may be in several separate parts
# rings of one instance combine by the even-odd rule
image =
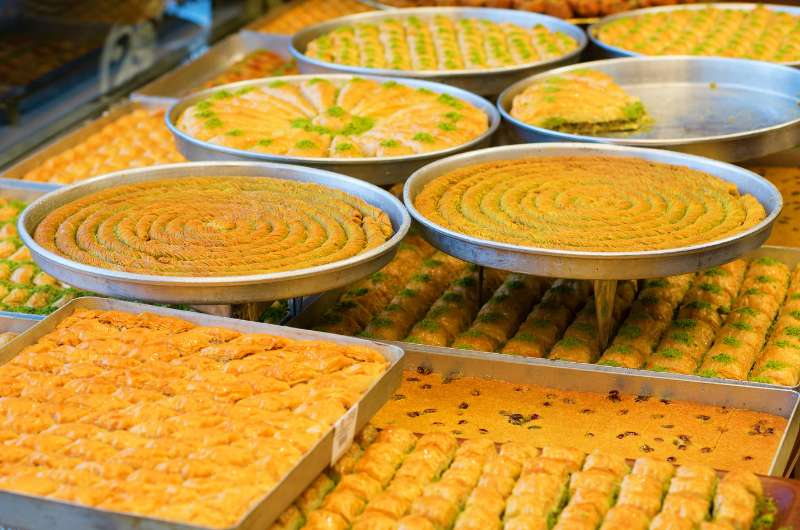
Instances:
[[[305,55],[305,49],[309,42],[344,24],[355,24],[359,22],[375,23],[388,18],[397,19],[399,17],[409,16],[428,18],[434,15],[447,15],[456,20],[462,18],[481,18],[493,22],[513,22],[514,24],[528,27],[541,24],[551,31],[559,31],[569,35],[578,42],[578,48],[563,57],[547,61],[502,68],[486,68],[483,70],[389,70],[364,68],[361,66],[329,63],[312,59]],[[588,39],[586,38],[586,33],[578,26],[559,18],[540,15],[539,13],[515,11],[513,9],[489,9],[484,7],[415,7],[401,10],[360,13],[358,15],[341,17],[315,26],[310,26],[295,33],[292,37],[289,51],[300,62],[301,70],[304,72],[347,72],[356,75],[392,75],[425,79],[463,88],[484,96],[496,96],[505,87],[519,79],[550,68],[577,62],[587,43]]]

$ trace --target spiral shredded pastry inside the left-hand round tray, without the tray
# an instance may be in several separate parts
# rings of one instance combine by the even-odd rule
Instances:
[[[71,260],[165,276],[238,276],[356,256],[393,233],[385,212],[342,191],[267,177],[116,186],[48,214],[34,237]]]

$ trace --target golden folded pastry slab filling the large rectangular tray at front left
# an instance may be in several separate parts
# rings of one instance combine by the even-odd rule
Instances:
[[[0,490],[229,528],[387,366],[367,345],[77,307],[0,367]]]

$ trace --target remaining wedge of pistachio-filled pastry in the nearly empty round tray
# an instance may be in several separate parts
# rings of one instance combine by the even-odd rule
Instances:
[[[511,116],[545,129],[594,136],[635,131],[648,122],[641,100],[598,70],[575,70],[531,83],[517,94]]]

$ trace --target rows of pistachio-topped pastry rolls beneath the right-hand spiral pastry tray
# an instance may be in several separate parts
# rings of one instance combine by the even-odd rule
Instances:
[[[781,260],[738,259],[643,280],[638,289],[637,282],[621,281],[612,336],[603,347],[592,282],[484,269],[479,284],[475,266],[432,252],[418,236],[407,238],[393,263],[345,291],[309,327],[527,358],[800,384],[794,335],[800,336],[800,268]],[[433,258],[424,262],[427,256]],[[449,269],[445,262],[452,263]]]

